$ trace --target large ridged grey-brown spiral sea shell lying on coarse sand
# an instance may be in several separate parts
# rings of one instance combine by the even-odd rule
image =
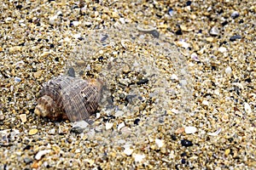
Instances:
[[[39,94],[35,113],[52,120],[81,121],[96,111],[102,82],[59,76],[45,82]]]

